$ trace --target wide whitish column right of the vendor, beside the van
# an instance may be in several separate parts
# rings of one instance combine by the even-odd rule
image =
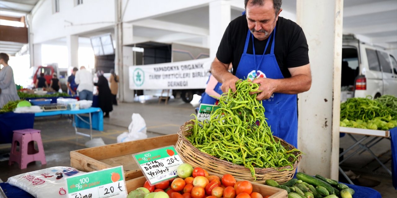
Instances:
[[[298,95],[298,171],[338,179],[343,0],[297,0],[312,87]]]

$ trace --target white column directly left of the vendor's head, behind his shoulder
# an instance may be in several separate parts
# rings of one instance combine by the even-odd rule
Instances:
[[[222,40],[227,25],[230,23],[230,2],[217,0],[209,3],[210,13],[210,38],[208,46],[210,48],[210,57],[216,57],[216,51]]]

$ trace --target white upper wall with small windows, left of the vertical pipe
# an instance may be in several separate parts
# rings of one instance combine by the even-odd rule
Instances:
[[[84,0],[78,6],[74,6],[74,0],[59,2],[58,13],[53,14],[52,0],[43,0],[32,11],[34,44],[114,25],[114,1]]]

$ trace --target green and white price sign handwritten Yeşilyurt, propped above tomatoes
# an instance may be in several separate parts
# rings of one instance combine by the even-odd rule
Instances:
[[[178,177],[176,169],[183,164],[174,146],[156,148],[132,156],[150,185]]]

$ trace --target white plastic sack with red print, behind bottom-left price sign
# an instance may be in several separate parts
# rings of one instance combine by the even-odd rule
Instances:
[[[66,178],[83,173],[66,166],[55,166],[10,177],[7,183],[36,198],[67,198]]]

